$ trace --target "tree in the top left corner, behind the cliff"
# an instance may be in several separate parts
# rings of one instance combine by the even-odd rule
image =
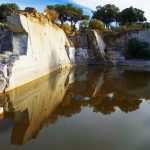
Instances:
[[[7,16],[10,16],[12,13],[18,13],[19,7],[15,3],[6,3],[0,5],[0,21],[6,22]]]

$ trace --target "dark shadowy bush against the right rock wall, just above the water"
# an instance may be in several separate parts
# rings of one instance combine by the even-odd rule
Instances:
[[[148,42],[136,38],[128,41],[128,53],[132,58],[150,60],[150,47]]]

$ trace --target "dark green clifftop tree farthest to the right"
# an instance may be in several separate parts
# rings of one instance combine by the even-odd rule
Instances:
[[[144,17],[144,11],[133,7],[126,8],[119,14],[119,22],[122,25],[144,22],[146,20],[147,19]]]

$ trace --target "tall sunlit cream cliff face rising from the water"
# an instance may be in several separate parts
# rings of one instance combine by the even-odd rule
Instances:
[[[69,42],[64,31],[48,20],[41,22],[31,16],[13,15],[8,17],[8,26],[13,32],[13,52],[19,57],[6,65],[5,77],[8,83],[5,91],[54,69],[73,65],[73,50],[66,50]],[[72,56],[71,59],[69,56]]]

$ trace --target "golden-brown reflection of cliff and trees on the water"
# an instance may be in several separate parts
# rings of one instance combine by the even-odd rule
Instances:
[[[60,70],[7,94],[4,116],[14,120],[11,143],[22,145],[40,130],[89,106],[109,115],[116,108],[128,113],[150,99],[149,72],[119,68],[74,68]],[[140,91],[140,92],[139,92]]]

